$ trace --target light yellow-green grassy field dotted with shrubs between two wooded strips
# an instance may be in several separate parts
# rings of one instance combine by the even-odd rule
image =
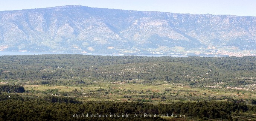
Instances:
[[[45,95],[75,97],[81,101],[142,101],[172,103],[177,101],[195,102],[202,100],[256,99],[256,92],[249,88],[193,87],[187,84],[171,84],[165,81],[154,83],[126,83],[121,81],[97,81],[92,84],[64,85],[23,85],[26,93],[43,97]]]

